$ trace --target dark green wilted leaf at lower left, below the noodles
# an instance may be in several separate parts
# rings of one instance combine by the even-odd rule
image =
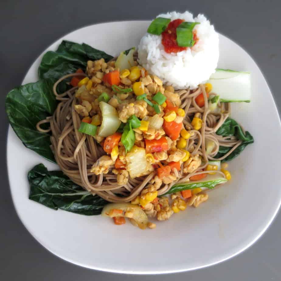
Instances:
[[[61,171],[48,172],[43,164],[28,173],[29,199],[54,210],[61,209],[87,216],[99,215],[108,202],[93,196],[72,182]]]

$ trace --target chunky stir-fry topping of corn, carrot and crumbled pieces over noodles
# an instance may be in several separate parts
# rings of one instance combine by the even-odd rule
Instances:
[[[147,222],[147,215],[167,220],[187,206],[199,206],[208,195],[200,193],[202,189],[198,187],[173,193],[172,203],[167,197],[158,198],[157,189],[162,183],[175,181],[181,169],[183,174],[194,172],[202,158],[186,150],[192,133],[183,124],[185,111],[180,108],[179,95],[172,86],[163,86],[157,76],[137,65],[133,52],[121,53],[117,61],[108,63],[103,59],[88,61],[88,77],[73,77],[71,85],[78,86],[75,110],[82,119],[79,131],[93,136],[106,153],[92,166],[91,172],[106,174],[113,168],[119,185],[126,184],[129,177],[155,173],[131,203],[109,204],[103,214],[112,217],[117,225],[124,224],[127,217],[140,228],[154,228],[154,223]],[[207,83],[205,87],[209,97],[212,85]],[[210,102],[217,104],[217,100]],[[197,96],[196,103],[204,106],[203,94]],[[201,118],[200,113],[195,113],[191,121],[195,130],[201,129]],[[221,171],[229,180],[231,175],[226,167],[224,164]],[[206,171],[218,168],[208,165]],[[190,183],[206,176],[207,173],[193,175]]]

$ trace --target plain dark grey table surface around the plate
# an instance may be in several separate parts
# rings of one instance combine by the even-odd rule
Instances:
[[[161,276],[119,275],[85,269],[57,258],[28,233],[15,212],[6,172],[8,120],[4,111],[5,95],[20,85],[35,58],[62,35],[99,22],[152,19],[160,12],[172,10],[206,14],[220,33],[245,48],[261,68],[280,109],[279,0],[2,0],[1,4],[1,280],[281,280],[280,212],[262,238],[245,252],[197,271]]]

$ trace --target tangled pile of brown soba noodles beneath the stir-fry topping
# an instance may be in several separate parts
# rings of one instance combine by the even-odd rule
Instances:
[[[92,65],[92,62],[90,64]],[[88,74],[89,72],[90,69],[88,68]],[[144,73],[143,71],[141,72],[142,74]],[[106,155],[106,152],[103,150],[101,145],[103,138],[95,138],[87,134],[82,134],[78,131],[82,121],[82,116],[80,116],[75,110],[75,106],[81,103],[81,100],[75,97],[75,91],[78,87],[71,88],[63,94],[57,93],[57,85],[62,80],[72,76],[80,76],[83,78],[86,74],[66,75],[54,84],[54,95],[56,95],[56,99],[59,100],[60,103],[58,104],[53,116],[40,121],[37,124],[37,129],[41,132],[51,132],[51,148],[54,152],[57,164],[60,166],[64,174],[67,175],[73,182],[82,186],[93,195],[97,194],[109,202],[130,202],[141,193],[151,179],[153,179],[153,177],[157,174],[157,168],[154,168],[154,171],[151,171],[148,175],[136,178],[131,178],[129,176],[127,183],[123,185],[118,184],[117,175],[112,172],[111,168],[114,168],[114,163],[109,167],[108,173],[100,173],[99,175],[96,175],[94,172],[91,172],[92,165],[97,163],[102,155]],[[101,84],[96,84],[92,87],[95,88],[98,85]],[[103,87],[107,86],[103,85]],[[128,88],[129,86],[121,84],[120,87]],[[162,88],[165,94],[166,90],[164,87]],[[108,89],[108,92],[112,91],[111,87],[108,87]],[[114,94],[115,93],[112,91],[109,96],[113,97]],[[184,163],[181,162],[181,170],[177,171],[174,169],[174,171],[172,171],[175,173],[176,179],[169,184],[162,183],[158,189],[158,195],[166,193],[175,183],[187,182],[193,175],[207,173],[206,171],[203,171],[203,169],[208,165],[209,160],[223,160],[241,144],[241,141],[237,140],[235,137],[222,137],[216,134],[217,129],[224,123],[230,114],[230,104],[219,103],[218,106],[220,107],[220,112],[211,113],[208,109],[208,99],[204,84],[199,85],[199,87],[194,90],[183,89],[175,91],[173,94],[179,95],[181,103],[179,108],[182,108],[185,112],[185,116],[182,121],[183,127],[191,135],[187,140],[185,149],[189,151],[191,155],[199,154],[200,158],[202,157],[202,163],[198,168],[196,168],[196,170],[186,174],[183,172]],[[195,101],[196,97],[200,94],[203,94],[204,97],[203,107],[199,107]],[[99,97],[96,94],[92,94],[92,96],[93,99],[97,99]],[[134,93],[130,93],[127,99],[122,100],[122,102],[117,106],[117,111],[120,113],[122,107],[126,106],[128,102],[132,103],[134,98],[136,98]],[[199,113],[202,118],[202,127],[200,130],[194,130],[191,124],[191,120],[195,113]],[[90,113],[90,115],[91,114],[95,113]],[[162,108],[160,116],[163,115],[164,113]],[[43,123],[50,123],[50,129],[41,129],[40,125]],[[215,146],[212,152],[207,155],[206,141],[208,140],[213,141]],[[122,144],[120,143],[120,145]],[[214,158],[220,145],[232,148],[223,157]],[[167,164],[165,160],[160,162],[162,165]],[[155,165],[152,167],[155,167]],[[216,172],[224,176],[222,172]]]

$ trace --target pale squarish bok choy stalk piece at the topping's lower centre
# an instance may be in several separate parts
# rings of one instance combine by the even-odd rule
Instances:
[[[146,172],[146,156],[144,148],[134,145],[130,152],[127,153],[126,160],[127,170],[132,179],[139,177]]]

